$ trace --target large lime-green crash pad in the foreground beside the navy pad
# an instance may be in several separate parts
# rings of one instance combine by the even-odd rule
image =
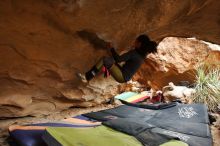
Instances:
[[[133,136],[106,126],[80,129],[49,127],[46,131],[43,139],[48,146],[142,146]]]

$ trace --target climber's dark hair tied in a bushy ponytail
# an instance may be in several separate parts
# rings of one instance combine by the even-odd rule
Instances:
[[[144,57],[150,53],[157,52],[157,43],[151,41],[146,34],[139,35],[136,40],[141,43],[141,46],[137,51]]]

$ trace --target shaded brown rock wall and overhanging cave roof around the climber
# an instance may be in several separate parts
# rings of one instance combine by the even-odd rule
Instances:
[[[1,0],[0,117],[106,102],[116,82],[100,76],[83,85],[75,75],[107,55],[106,41],[119,52],[140,33],[157,42],[182,36],[220,43],[219,8],[219,0]],[[138,75],[159,86],[145,79],[160,63],[149,59]]]

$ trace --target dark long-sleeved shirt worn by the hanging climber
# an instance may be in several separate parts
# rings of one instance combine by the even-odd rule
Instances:
[[[116,63],[125,62],[125,64],[121,67],[125,81],[129,81],[144,62],[144,57],[141,56],[135,49],[122,55],[118,55],[115,49],[112,48],[111,53]]]

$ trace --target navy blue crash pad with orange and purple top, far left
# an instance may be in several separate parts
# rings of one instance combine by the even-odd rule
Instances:
[[[47,146],[42,135],[47,127],[88,128],[101,123],[82,115],[62,121],[36,123],[29,125],[12,125],[9,127],[10,145],[17,146]]]

